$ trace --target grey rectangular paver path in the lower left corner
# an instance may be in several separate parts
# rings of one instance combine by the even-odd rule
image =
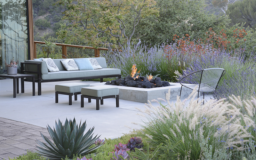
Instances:
[[[35,151],[36,139],[44,142],[40,132],[50,138],[44,127],[0,117],[0,160],[26,154],[27,150]]]

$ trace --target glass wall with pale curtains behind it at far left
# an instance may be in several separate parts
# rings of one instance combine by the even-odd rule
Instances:
[[[0,0],[0,66],[4,60],[28,60],[26,0]]]

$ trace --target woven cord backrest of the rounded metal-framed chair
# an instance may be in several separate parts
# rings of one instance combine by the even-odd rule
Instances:
[[[220,78],[225,73],[226,70],[223,68],[203,69],[199,84],[199,92],[213,92],[217,88]]]

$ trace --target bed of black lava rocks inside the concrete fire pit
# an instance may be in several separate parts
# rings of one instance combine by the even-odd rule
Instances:
[[[156,88],[156,87],[167,87],[170,83],[167,81],[161,81],[160,77],[155,77],[154,79],[148,80],[146,77],[138,76],[135,79],[132,76],[127,76],[125,78],[120,78],[117,80],[107,81],[105,84],[108,85],[118,85],[118,86],[128,86],[128,87],[138,87],[138,88]]]

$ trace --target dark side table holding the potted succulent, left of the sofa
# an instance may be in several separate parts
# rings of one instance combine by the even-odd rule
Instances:
[[[0,77],[13,79],[13,98],[16,98],[16,92],[19,93],[19,78],[32,78],[33,96],[36,95],[35,75],[16,74],[16,75],[0,75]],[[24,84],[22,83],[21,83],[21,93],[24,93]]]

